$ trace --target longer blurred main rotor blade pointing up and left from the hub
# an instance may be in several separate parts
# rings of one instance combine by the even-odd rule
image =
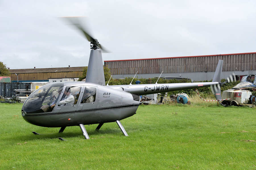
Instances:
[[[84,18],[84,17],[61,17],[61,18],[64,18],[65,20],[67,20],[69,23],[71,23],[72,25],[74,25],[77,29],[79,29],[83,34],[84,36],[86,37],[86,39],[90,42],[94,41],[94,38],[88,34],[88,31],[86,31],[82,25],[80,24],[80,18]]]

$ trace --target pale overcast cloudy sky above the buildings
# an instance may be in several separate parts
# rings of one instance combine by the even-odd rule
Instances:
[[[10,69],[84,67],[90,42],[103,60],[256,52],[256,1],[0,0],[0,61]],[[103,63],[102,63],[103,64]]]

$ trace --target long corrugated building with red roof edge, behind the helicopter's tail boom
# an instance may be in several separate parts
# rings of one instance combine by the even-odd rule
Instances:
[[[243,75],[256,74],[256,52],[237,54],[217,54],[205,56],[183,56],[168,58],[147,58],[104,61],[113,78],[177,77],[195,81],[211,80],[218,60],[223,60],[222,78],[233,72],[240,79]]]

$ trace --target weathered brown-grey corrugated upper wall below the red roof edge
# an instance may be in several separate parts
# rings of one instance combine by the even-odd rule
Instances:
[[[219,59],[224,60],[222,71],[256,70],[256,54],[191,56],[179,58],[105,61],[112,75],[152,73],[191,73],[215,71]]]

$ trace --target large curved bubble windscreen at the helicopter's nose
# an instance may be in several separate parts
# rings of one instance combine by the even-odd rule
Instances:
[[[32,93],[25,101],[23,110],[26,113],[51,112],[59,99],[64,83],[49,83]]]

